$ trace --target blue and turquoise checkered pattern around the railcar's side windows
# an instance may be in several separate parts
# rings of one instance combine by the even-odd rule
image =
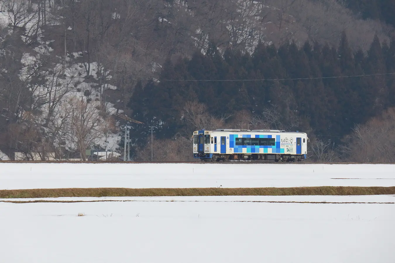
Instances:
[[[267,148],[272,149],[272,153],[284,153],[284,149],[280,148],[280,135],[276,135],[276,145],[235,145],[238,134],[229,134],[229,147],[234,148],[233,153],[243,153],[243,148],[246,148],[246,153],[259,153],[259,149],[263,148],[263,153],[267,153]],[[242,138],[251,138],[251,134],[242,134]],[[253,138],[272,138],[271,135],[255,135]]]

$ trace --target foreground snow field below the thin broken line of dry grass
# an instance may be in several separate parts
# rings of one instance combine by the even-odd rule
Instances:
[[[393,204],[199,201],[0,202],[1,258],[8,263],[392,263],[394,208]]]

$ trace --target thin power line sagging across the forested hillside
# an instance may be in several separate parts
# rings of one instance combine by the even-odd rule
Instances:
[[[44,77],[59,77],[59,78],[75,78],[75,79],[96,79],[96,80],[157,80],[155,78],[100,78],[93,76],[60,76],[60,75],[31,75],[26,73],[12,73],[12,72],[3,72],[0,74],[14,74],[19,76],[44,76]],[[328,77],[310,77],[310,78],[260,78],[260,79],[217,79],[217,80],[194,80],[194,79],[159,79],[157,81],[189,81],[189,82],[236,82],[236,81],[284,81],[284,80],[315,80],[315,79],[328,79],[328,78],[354,78],[354,77],[366,77],[366,76],[383,76],[383,75],[395,75],[395,72],[392,73],[376,73],[376,74],[367,74],[367,75],[349,75],[349,76],[328,76]]]

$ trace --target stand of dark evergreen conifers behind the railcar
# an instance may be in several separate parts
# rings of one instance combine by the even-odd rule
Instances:
[[[157,127],[157,138],[188,136],[185,105],[198,101],[213,114],[228,115],[230,125],[233,113],[247,110],[266,118],[269,128],[307,131],[340,144],[356,124],[395,106],[394,58],[395,41],[381,46],[376,36],[365,55],[351,51],[345,34],[338,47],[292,42],[278,49],[260,43],[252,55],[197,51],[191,60],[167,61],[160,83],[137,85],[128,106],[147,126],[136,126],[134,138],[144,142],[150,126]],[[269,112],[278,118],[267,119]]]

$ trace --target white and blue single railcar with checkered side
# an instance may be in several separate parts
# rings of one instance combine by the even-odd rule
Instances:
[[[216,129],[194,131],[194,158],[205,161],[306,159],[305,132],[279,130]]]

